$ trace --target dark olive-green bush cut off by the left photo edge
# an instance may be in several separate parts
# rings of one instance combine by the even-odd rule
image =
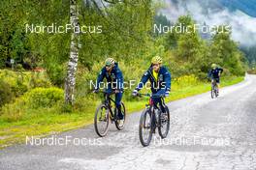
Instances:
[[[0,79],[0,107],[13,99],[13,93],[10,85]]]

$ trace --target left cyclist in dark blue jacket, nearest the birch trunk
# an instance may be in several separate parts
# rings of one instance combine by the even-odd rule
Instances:
[[[108,58],[105,61],[105,67],[100,71],[97,78],[97,86],[94,93],[97,93],[100,88],[100,83],[106,78],[108,82],[107,92],[115,92],[115,104],[118,110],[117,116],[119,120],[123,120],[121,112],[121,99],[123,94],[123,75],[118,68],[118,64],[112,59]]]

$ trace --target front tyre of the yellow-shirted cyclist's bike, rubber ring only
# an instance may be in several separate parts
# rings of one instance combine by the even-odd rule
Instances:
[[[146,116],[148,116],[149,118],[149,132],[148,132],[148,138],[147,140],[144,140],[144,134],[143,134],[143,129],[144,129],[144,124],[145,124],[145,119],[146,119]],[[150,110],[148,108],[146,108],[141,116],[141,119],[140,119],[140,125],[139,125],[139,137],[140,137],[140,142],[142,143],[142,145],[144,147],[148,146],[151,142],[151,139],[152,139],[152,117],[151,117],[151,113],[150,113]]]

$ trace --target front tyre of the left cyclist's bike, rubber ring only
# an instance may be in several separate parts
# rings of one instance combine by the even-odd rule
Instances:
[[[100,130],[99,128],[99,124],[98,124],[98,116],[100,116],[100,111],[102,110],[102,108],[106,109],[106,127],[104,128],[104,130]],[[109,125],[110,125],[110,110],[108,109],[108,107],[105,104],[100,104],[95,112],[95,116],[94,116],[94,128],[96,133],[100,136],[100,137],[104,137],[107,135],[108,130],[109,130]],[[105,122],[105,121],[104,121]]]

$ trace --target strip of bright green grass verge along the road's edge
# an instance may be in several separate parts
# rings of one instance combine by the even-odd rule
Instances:
[[[222,86],[229,86],[239,83],[243,77],[222,78]],[[172,93],[166,101],[183,99],[186,97],[202,94],[210,90],[209,82],[174,83]],[[98,103],[99,101],[95,102]],[[139,111],[144,108],[146,99],[125,101],[128,113]],[[8,122],[0,117],[0,148],[15,143],[24,143],[26,136],[46,136],[74,128],[81,128],[93,123],[95,106],[92,105],[84,112],[55,113],[54,109],[30,110],[21,120]],[[29,112],[29,111],[28,111]]]

